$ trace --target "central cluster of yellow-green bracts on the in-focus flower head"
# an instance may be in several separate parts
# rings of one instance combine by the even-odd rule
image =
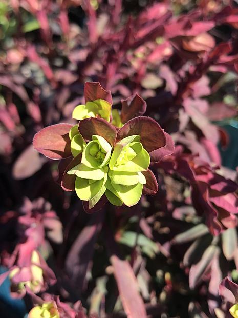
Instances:
[[[123,138],[114,148],[101,136],[93,135],[88,144],[80,134],[70,133],[71,151],[74,156],[82,152],[81,162],[69,170],[75,174],[75,190],[78,197],[89,202],[92,208],[105,193],[107,199],[116,206],[123,203],[135,205],[142,195],[146,183],[143,171],[150,164],[148,152],[140,143],[140,136]],[[72,137],[73,136],[73,137]]]

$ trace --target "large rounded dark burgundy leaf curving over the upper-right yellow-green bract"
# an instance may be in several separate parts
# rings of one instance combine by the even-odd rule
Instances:
[[[118,130],[117,141],[132,135],[140,135],[140,141],[148,152],[164,147],[166,144],[164,130],[150,117],[140,116],[129,120]]]

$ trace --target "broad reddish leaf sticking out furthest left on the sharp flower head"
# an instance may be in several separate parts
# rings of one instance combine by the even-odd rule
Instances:
[[[71,124],[56,124],[41,129],[33,138],[34,148],[50,159],[71,156],[69,131],[72,127]]]

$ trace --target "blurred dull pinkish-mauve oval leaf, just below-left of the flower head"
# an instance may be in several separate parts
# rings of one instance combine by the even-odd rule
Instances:
[[[46,158],[40,157],[33,145],[30,145],[15,161],[12,169],[13,177],[17,180],[28,178],[37,172],[45,162]]]

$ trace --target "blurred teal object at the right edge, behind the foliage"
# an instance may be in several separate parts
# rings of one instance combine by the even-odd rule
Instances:
[[[220,148],[222,165],[235,170],[238,166],[238,121],[230,120],[229,123],[217,123],[229,135],[228,147],[223,150]]]

